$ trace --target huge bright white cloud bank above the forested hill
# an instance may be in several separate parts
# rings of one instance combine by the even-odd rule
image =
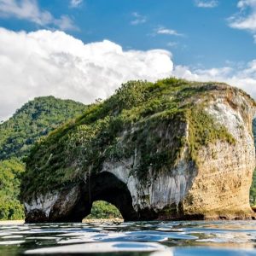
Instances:
[[[162,49],[127,50],[108,40],[84,44],[65,32],[11,32],[0,28],[0,120],[35,96],[90,103],[125,81],[169,77]]]

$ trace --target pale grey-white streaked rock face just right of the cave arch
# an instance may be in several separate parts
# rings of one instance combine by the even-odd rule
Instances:
[[[196,172],[191,170],[191,166],[188,166],[184,159],[181,159],[177,168],[170,170],[170,174],[165,173],[156,178],[150,177],[149,174],[148,177],[145,177],[147,178],[145,185],[131,174],[131,166],[133,166],[132,158],[125,163],[106,162],[102,172],[110,172],[127,184],[131,193],[132,205],[136,210],[149,207],[156,212],[168,205],[176,204],[178,206],[188,192],[189,184],[191,184]]]

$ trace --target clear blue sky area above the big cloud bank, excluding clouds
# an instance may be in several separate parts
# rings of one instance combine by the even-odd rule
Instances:
[[[68,15],[76,27],[67,32],[84,43],[109,39],[124,49],[168,49],[177,64],[210,68],[255,58],[252,35],[229,26],[228,19],[239,11],[237,2],[199,8],[194,0],[86,0],[72,8],[69,0],[41,0],[38,7],[56,18]],[[2,16],[0,26],[27,32],[58,28],[15,16]],[[161,27],[182,35],[157,34]]]

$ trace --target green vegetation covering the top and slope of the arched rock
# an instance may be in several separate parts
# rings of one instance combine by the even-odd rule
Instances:
[[[238,89],[175,78],[122,84],[106,101],[91,104],[79,118],[36,143],[26,160],[22,197],[72,186],[84,173],[100,172],[104,161],[134,155],[140,160],[133,172],[146,182],[148,172],[170,172],[186,145],[196,164],[198,150],[208,143],[236,143],[205,111],[222,90]]]

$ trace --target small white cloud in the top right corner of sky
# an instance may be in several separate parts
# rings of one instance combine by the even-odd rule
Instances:
[[[230,27],[256,32],[256,0],[241,0],[237,8],[240,12],[229,18]]]

